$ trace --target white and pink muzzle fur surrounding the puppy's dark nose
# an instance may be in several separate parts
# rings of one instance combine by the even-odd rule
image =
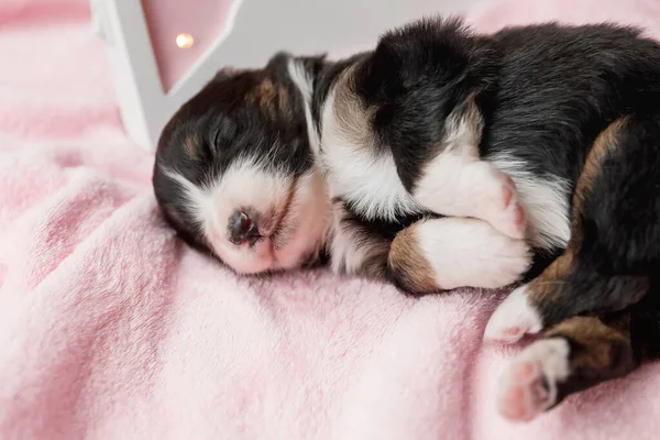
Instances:
[[[242,160],[204,188],[178,173],[169,170],[167,175],[185,189],[184,206],[200,223],[213,252],[238,273],[296,267],[322,244],[329,204],[320,174],[314,168],[295,183],[293,176],[268,169],[256,160]],[[277,249],[270,240],[261,240],[254,246],[229,241],[228,222],[235,210],[257,211],[261,226],[270,229],[277,226],[277,216],[287,209],[287,223]]]

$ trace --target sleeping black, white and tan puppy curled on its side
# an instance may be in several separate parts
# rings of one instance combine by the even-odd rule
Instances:
[[[414,293],[497,287],[527,241],[534,279],[486,328],[546,329],[503,378],[501,411],[526,420],[660,353],[659,98],[660,47],[635,30],[426,20],[339,63],[220,74],[165,129],[156,197],[242,273],[327,252]]]

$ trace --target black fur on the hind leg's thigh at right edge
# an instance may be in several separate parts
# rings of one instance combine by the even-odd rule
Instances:
[[[540,310],[552,324],[623,310],[660,280],[660,114],[627,118],[580,209],[582,245],[560,295]]]

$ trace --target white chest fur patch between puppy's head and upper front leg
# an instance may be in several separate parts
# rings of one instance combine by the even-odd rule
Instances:
[[[330,197],[341,197],[367,219],[395,220],[400,213],[420,212],[399,179],[394,158],[376,154],[371,145],[353,145],[334,118],[334,90],[322,112],[322,167]]]

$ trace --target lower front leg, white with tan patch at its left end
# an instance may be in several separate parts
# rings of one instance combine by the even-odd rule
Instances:
[[[524,240],[465,218],[420,220],[396,235],[388,255],[391,276],[414,294],[503,287],[519,280],[530,263]]]

